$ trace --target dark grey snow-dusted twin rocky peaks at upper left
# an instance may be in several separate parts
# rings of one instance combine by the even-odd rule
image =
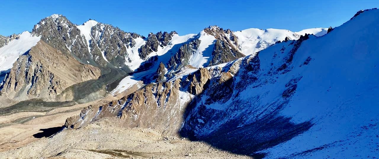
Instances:
[[[125,60],[131,61],[127,49],[135,46],[134,39],[141,37],[111,25],[97,23],[90,30],[91,39],[86,39],[80,29],[63,15],[42,19],[34,26],[32,33],[80,63],[109,68],[125,68]],[[90,40],[89,46],[87,40]]]

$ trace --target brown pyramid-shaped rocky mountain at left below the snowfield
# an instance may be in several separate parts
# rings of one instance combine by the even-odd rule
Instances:
[[[59,95],[68,86],[99,76],[99,68],[83,65],[41,40],[19,57],[0,86],[0,93],[17,100],[52,100],[52,96]]]

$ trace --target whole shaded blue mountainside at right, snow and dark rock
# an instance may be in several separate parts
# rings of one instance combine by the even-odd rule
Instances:
[[[232,91],[197,97],[182,134],[268,159],[379,156],[378,15],[224,66],[238,69]]]

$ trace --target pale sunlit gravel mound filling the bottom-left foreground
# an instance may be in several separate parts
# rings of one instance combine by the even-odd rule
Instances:
[[[152,129],[119,128],[105,123],[103,120],[78,130],[65,130],[50,138],[41,138],[23,147],[1,152],[0,158],[251,158],[217,150],[204,142],[161,136]]]

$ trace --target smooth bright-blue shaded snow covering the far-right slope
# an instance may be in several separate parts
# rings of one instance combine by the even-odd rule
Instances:
[[[315,125],[265,150],[270,158],[379,156],[378,15],[377,9],[365,11],[330,34],[302,43],[294,63],[301,64],[307,56],[312,60],[304,68],[295,65],[285,76],[302,79],[281,114],[295,123],[312,120]]]

